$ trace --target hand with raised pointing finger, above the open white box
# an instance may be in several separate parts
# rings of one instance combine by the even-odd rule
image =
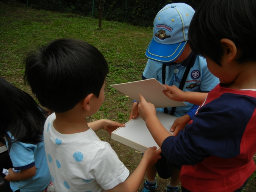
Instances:
[[[152,103],[147,102],[142,95],[140,95],[140,103],[138,111],[141,118],[146,121],[147,118],[156,116],[156,109]]]

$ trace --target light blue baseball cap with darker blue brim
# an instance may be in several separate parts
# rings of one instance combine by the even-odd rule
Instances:
[[[195,10],[185,3],[172,3],[154,18],[153,38],[145,56],[162,63],[177,60],[188,41],[189,24]]]

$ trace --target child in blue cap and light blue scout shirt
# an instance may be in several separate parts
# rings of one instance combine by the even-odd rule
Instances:
[[[189,46],[188,29],[195,11],[185,3],[172,3],[161,9],[154,19],[153,38],[145,56],[148,58],[142,79],[155,78],[160,83],[175,85],[183,91],[208,93],[219,80],[207,68],[206,60],[192,52]],[[180,129],[192,119],[198,105],[185,102],[186,106],[157,108],[157,111],[177,116],[171,131],[177,136]],[[134,102],[130,118],[138,115],[138,103]],[[162,155],[155,166],[148,168],[144,191],[157,187],[156,173],[162,178],[171,177],[166,190],[179,190],[180,165],[171,164]]]

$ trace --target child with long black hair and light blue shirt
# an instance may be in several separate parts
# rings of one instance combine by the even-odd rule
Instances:
[[[18,170],[9,169],[0,192],[41,192],[51,182],[43,141],[47,113],[28,93],[3,78],[0,106],[0,142],[6,144]]]

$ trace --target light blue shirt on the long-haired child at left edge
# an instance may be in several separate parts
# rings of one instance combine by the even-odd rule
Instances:
[[[14,137],[11,136],[11,133],[7,133],[13,140]],[[7,140],[6,147],[8,148]],[[44,151],[44,142],[29,144],[18,141],[12,144],[9,155],[15,170],[36,167],[36,174],[33,177],[26,180],[10,182],[13,191],[20,189],[20,192],[41,192],[49,185],[51,175]]]

